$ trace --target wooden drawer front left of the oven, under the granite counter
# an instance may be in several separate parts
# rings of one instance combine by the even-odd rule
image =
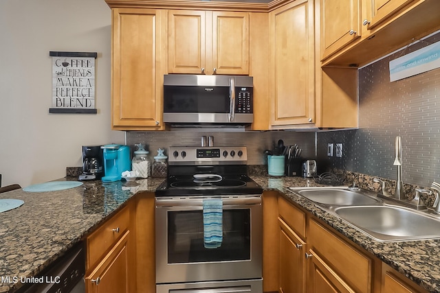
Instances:
[[[129,223],[130,209],[127,206],[87,237],[87,269],[93,266],[128,230]]]

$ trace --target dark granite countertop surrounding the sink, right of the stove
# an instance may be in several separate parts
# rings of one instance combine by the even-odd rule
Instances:
[[[324,211],[287,187],[319,186],[313,179],[251,176],[265,190],[281,191],[286,198],[326,222],[355,244],[381,259],[429,292],[440,292],[440,239],[408,242],[377,242],[336,216]]]

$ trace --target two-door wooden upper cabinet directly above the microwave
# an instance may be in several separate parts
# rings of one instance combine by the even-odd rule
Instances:
[[[168,73],[249,74],[249,13],[168,11]]]

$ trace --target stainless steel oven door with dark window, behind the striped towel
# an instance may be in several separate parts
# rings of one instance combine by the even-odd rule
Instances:
[[[223,240],[203,246],[203,198],[156,198],[156,283],[262,277],[261,196],[222,196]]]

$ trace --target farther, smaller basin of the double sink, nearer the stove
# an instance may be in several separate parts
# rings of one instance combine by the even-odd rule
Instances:
[[[381,200],[347,189],[303,189],[296,190],[301,196],[325,205],[367,205],[377,204]]]

